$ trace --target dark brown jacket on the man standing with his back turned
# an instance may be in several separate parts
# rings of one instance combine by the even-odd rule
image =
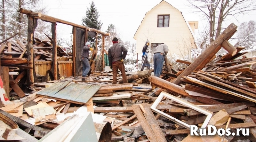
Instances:
[[[127,55],[127,49],[122,44],[114,43],[108,49],[108,61],[109,65],[112,67],[112,63],[121,59],[125,59]]]

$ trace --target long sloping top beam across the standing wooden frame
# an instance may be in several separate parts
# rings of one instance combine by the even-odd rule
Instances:
[[[27,14],[27,15],[30,15],[33,13],[36,13],[36,12],[32,12],[31,10],[27,10],[27,9],[23,9],[23,8],[20,8],[19,10],[20,13],[22,14]],[[97,30],[97,29],[94,29],[94,28],[88,28],[88,27],[85,27],[85,26],[82,26],[82,25],[78,25],[78,24],[75,24],[75,23],[72,23],[72,22],[68,22],[68,21],[65,21],[65,20],[61,20],[61,19],[58,19],[58,18],[54,18],[54,17],[51,17],[51,16],[48,16],[48,15],[44,15],[44,14],[41,14],[41,16],[37,16],[35,17],[37,19],[41,19],[41,20],[45,20],[45,21],[48,21],[48,22],[53,22],[53,23],[62,23],[62,24],[66,24],[66,25],[70,25],[70,26],[74,26],[74,27],[77,27],[77,28],[82,28],[82,29],[86,29],[87,30],[90,30],[90,31],[93,31],[93,32],[97,32],[97,33],[100,33],[101,35],[105,35],[105,36],[109,36],[110,34],[109,33],[104,33],[100,30]]]

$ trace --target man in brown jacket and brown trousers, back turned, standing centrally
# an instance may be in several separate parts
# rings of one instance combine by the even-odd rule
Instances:
[[[123,77],[123,83],[128,83],[127,77],[125,74],[125,67],[124,67],[124,59],[127,55],[127,49],[124,47],[124,45],[121,45],[118,43],[118,39],[116,37],[113,38],[112,40],[113,46],[111,46],[108,49],[108,60],[109,60],[109,65],[110,68],[113,69],[113,83],[117,83],[117,73],[118,69],[122,73]]]

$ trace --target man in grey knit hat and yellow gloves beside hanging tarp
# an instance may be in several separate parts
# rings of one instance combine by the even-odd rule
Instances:
[[[89,42],[85,43],[85,46],[83,47],[82,50],[82,55],[81,55],[81,62],[83,65],[83,74],[82,74],[82,81],[85,81],[86,75],[89,73],[91,66],[89,63],[89,51],[92,51],[91,44]]]

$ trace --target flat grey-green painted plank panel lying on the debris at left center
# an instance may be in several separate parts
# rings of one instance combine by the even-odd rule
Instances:
[[[52,86],[45,88],[44,91],[36,93],[36,96],[80,105],[90,105],[91,102],[88,101],[100,89],[99,85],[71,83],[67,86],[67,84],[68,82],[55,83]]]

